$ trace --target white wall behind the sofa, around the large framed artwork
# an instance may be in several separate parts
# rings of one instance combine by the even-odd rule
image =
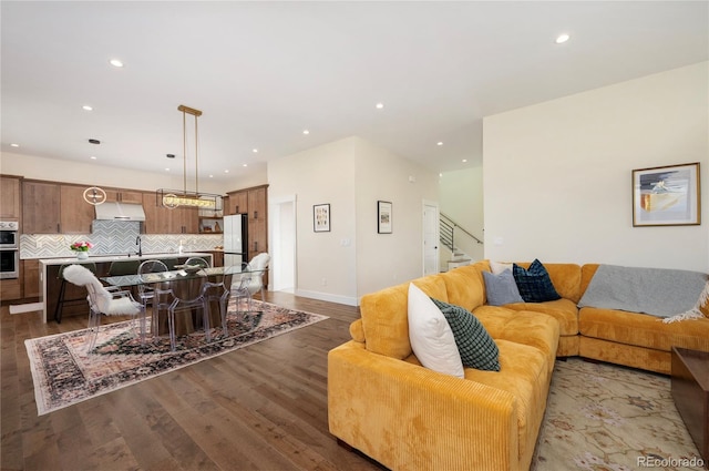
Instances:
[[[709,272],[708,68],[485,117],[485,256]],[[691,162],[703,223],[633,227],[631,171]]]

